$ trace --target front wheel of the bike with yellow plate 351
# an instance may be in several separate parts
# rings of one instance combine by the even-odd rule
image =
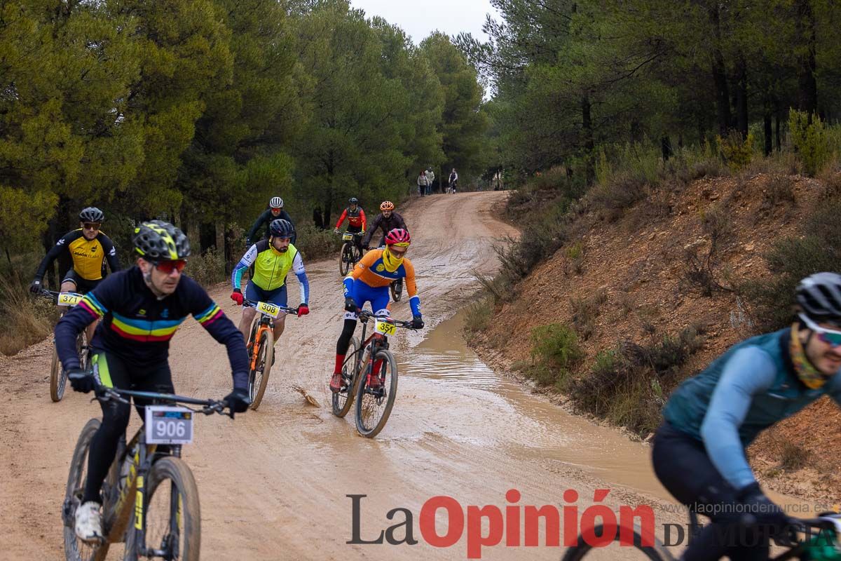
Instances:
[[[368,364],[371,364],[370,362]],[[380,349],[373,364],[376,372],[368,375],[368,364],[359,373],[357,386],[357,431],[363,437],[373,438],[389,421],[397,394],[397,361],[387,349]],[[373,369],[373,366],[372,366]]]

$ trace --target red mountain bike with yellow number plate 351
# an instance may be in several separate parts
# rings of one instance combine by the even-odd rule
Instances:
[[[348,347],[341,368],[342,389],[333,394],[333,414],[345,416],[355,401],[357,432],[373,438],[389,421],[397,395],[397,361],[386,337],[394,335],[397,327],[415,328],[411,321],[378,317],[368,310],[357,310],[357,315],[362,320],[362,344],[353,337],[353,351]],[[366,338],[369,320],[374,320],[374,327]]]

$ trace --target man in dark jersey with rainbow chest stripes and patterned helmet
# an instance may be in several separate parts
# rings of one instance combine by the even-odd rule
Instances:
[[[190,255],[187,236],[167,222],[152,220],[135,229],[134,246],[135,267],[103,280],[56,325],[56,349],[73,389],[87,394],[99,384],[174,393],[167,362],[169,341],[192,314],[227,347],[234,389],[225,401],[230,410],[245,412],[250,403],[246,344],[204,288],[182,275]],[[76,338],[100,318],[91,341],[93,373],[89,373],[79,368]],[[131,412],[130,405],[113,400],[100,405],[103,421],[91,441],[85,492],[76,511],[76,535],[85,542],[103,537],[100,490]],[[150,402],[135,398],[135,405],[142,417],[142,407]]]

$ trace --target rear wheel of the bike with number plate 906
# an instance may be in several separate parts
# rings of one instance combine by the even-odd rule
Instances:
[[[76,509],[82,504],[82,495],[85,492],[87,453],[91,447],[93,433],[98,431],[100,424],[98,419],[91,419],[82,427],[82,434],[79,435],[70,462],[64,505],[61,507],[61,519],[64,522],[64,555],[67,561],[102,561],[108,555],[108,542],[101,545],[82,542],[76,537],[74,529]]]

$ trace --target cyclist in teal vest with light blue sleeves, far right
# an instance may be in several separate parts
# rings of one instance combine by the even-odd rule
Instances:
[[[677,500],[711,518],[686,549],[687,561],[768,558],[768,538],[780,535],[788,517],[759,488],[744,450],[822,395],[841,404],[841,275],[802,279],[796,301],[791,327],[731,347],[664,407],[654,471]]]

